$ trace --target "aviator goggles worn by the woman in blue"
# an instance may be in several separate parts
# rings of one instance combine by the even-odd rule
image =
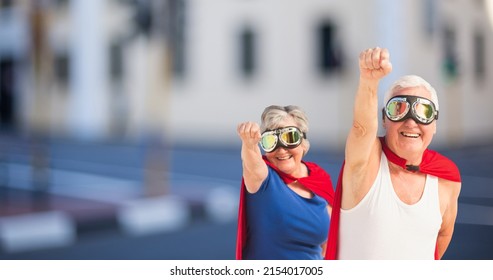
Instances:
[[[273,152],[278,147],[294,149],[301,144],[303,138],[306,138],[306,134],[294,126],[267,130],[262,133],[260,147],[267,153]]]

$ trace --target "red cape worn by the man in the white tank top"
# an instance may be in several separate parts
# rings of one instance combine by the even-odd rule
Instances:
[[[380,137],[380,143],[382,144],[382,150],[385,153],[387,159],[404,169],[408,169],[406,166],[406,160],[400,158],[394,152],[392,152],[387,144],[385,138]],[[341,215],[341,199],[342,199],[342,174],[344,171],[344,163],[342,163],[341,171],[339,172],[339,178],[337,179],[337,186],[335,192],[334,206],[332,207],[332,216],[330,220],[329,228],[329,241],[327,243],[327,259],[337,259],[337,247],[339,242],[339,219]],[[438,178],[442,178],[449,181],[460,182],[459,169],[450,159],[439,154],[438,152],[426,149],[423,153],[423,158],[417,170],[424,174],[430,174]],[[438,259],[437,251],[435,250],[435,259]]]

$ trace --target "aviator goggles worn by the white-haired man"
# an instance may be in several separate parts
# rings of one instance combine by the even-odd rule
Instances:
[[[420,124],[430,124],[438,119],[438,110],[429,99],[414,95],[398,95],[392,97],[385,108],[384,114],[393,122],[412,118]]]

